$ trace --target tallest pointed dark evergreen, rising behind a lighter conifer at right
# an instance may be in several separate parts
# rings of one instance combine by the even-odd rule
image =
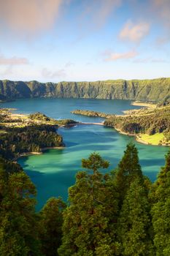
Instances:
[[[120,197],[120,207],[131,182],[136,177],[141,178],[142,181],[143,176],[141,166],[139,165],[138,151],[133,143],[128,143],[115,173],[117,192]]]

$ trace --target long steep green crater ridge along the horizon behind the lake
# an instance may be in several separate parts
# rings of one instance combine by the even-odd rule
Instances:
[[[39,83],[0,80],[0,100],[59,97],[170,102],[170,78]]]

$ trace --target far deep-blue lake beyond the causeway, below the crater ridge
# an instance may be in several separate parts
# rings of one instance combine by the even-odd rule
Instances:
[[[122,114],[123,110],[139,108],[131,105],[129,100],[112,99],[18,99],[15,102],[6,102],[1,108],[17,108],[18,113],[42,112],[52,118],[72,118],[77,121],[98,122],[103,118],[89,118],[70,113],[72,110],[96,110],[104,113]]]

